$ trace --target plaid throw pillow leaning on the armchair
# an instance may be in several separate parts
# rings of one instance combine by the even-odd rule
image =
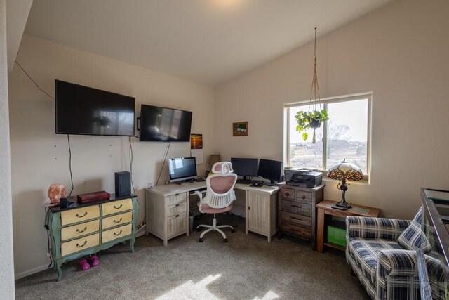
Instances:
[[[431,245],[421,230],[422,209],[420,208],[410,226],[398,237],[398,243],[408,250],[417,250],[422,247],[424,253],[431,250]]]

